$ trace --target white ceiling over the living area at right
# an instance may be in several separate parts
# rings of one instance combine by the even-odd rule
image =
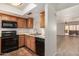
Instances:
[[[79,21],[79,4],[59,4],[56,8],[58,23]]]

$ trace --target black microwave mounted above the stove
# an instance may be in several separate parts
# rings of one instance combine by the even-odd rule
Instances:
[[[2,28],[17,28],[17,22],[2,21]]]

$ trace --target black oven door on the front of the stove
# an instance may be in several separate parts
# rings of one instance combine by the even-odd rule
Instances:
[[[2,38],[1,40],[1,52],[11,52],[18,49],[18,39],[17,38]]]

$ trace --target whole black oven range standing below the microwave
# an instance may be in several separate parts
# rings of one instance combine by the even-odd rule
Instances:
[[[1,52],[11,52],[18,49],[18,36],[16,31],[2,31]]]

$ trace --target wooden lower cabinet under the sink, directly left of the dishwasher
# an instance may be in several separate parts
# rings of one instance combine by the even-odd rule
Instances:
[[[25,46],[35,52],[35,37],[26,35]]]

